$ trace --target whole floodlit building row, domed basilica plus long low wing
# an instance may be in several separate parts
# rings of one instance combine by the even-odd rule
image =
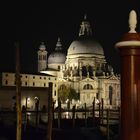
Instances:
[[[72,105],[91,106],[93,100],[104,100],[104,107],[120,106],[120,76],[115,74],[112,66],[105,59],[103,47],[92,36],[89,21],[84,17],[79,36],[63,52],[60,38],[56,48],[48,56],[46,46],[41,43],[38,54],[38,74],[21,74],[21,104],[29,109],[35,108],[39,99],[40,109],[47,106],[48,83],[53,83],[52,98],[58,105],[59,89],[73,88],[80,95]],[[12,108],[16,95],[15,73],[1,74],[0,108]]]

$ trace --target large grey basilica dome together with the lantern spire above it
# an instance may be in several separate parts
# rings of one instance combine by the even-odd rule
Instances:
[[[95,54],[104,55],[102,46],[93,39],[92,29],[86,15],[81,22],[79,37],[73,41],[68,49],[68,55]]]

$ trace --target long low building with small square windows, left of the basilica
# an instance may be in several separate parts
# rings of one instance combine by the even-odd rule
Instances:
[[[0,86],[0,109],[13,109],[16,102],[15,73],[3,72]],[[57,100],[57,78],[44,74],[21,74],[21,105],[35,110],[36,99],[39,109],[47,108],[49,82],[53,83],[53,99]]]

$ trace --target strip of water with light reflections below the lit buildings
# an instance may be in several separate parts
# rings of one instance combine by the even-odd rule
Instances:
[[[72,112],[62,112],[61,113],[61,118],[62,119],[72,119],[73,113]],[[87,119],[87,118],[91,118],[92,116],[92,112],[75,112],[75,118],[79,118],[79,119]],[[95,117],[99,117],[99,111],[95,111]],[[54,113],[54,119],[58,119],[58,112]],[[27,112],[26,114],[23,113],[22,114],[22,122],[23,124],[28,121],[32,124],[36,123],[36,121],[42,121],[47,123],[48,122],[48,113],[42,113],[42,112]],[[0,121],[2,121],[4,124],[13,124],[16,122],[16,113],[0,113]],[[114,121],[114,122],[118,122],[118,121]]]

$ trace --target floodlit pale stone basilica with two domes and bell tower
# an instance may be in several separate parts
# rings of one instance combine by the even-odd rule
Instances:
[[[60,38],[49,56],[43,42],[37,53],[38,72],[57,78],[53,94],[56,104],[60,89],[71,88],[79,95],[78,100],[72,100],[78,106],[84,103],[91,106],[94,99],[97,103],[103,99],[105,107],[120,106],[120,75],[115,74],[112,66],[106,62],[103,47],[92,36],[92,28],[86,16],[67,54],[63,51]]]

